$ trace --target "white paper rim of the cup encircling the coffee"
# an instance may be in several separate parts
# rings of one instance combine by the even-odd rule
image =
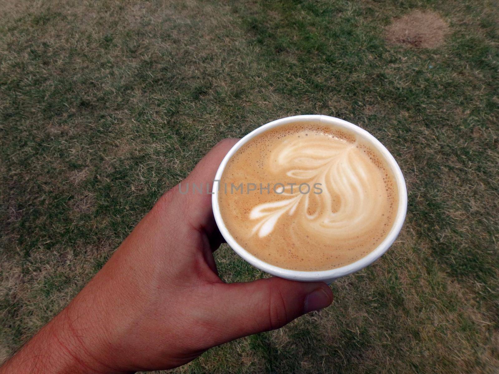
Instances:
[[[306,115],[306,116],[293,116],[293,117],[281,118],[279,120],[269,122],[266,125],[260,126],[256,130],[251,131],[250,134],[246,135],[243,139],[241,139],[238,143],[236,143],[234,147],[232,147],[232,149],[229,151],[227,156],[220,164],[220,167],[215,176],[215,180],[217,181],[221,179],[222,173],[224,172],[224,169],[229,160],[231,159],[231,157],[236,152],[238,152],[238,150],[243,145],[245,145],[248,141],[250,141],[250,139],[254,138],[255,136],[267,130],[273,129],[274,127],[286,125],[289,123],[296,123],[296,122],[307,122],[307,123],[316,122],[321,126],[331,125],[334,127],[344,128],[353,131],[362,139],[367,140],[386,159],[387,165],[392,170],[392,173],[396,179],[397,187],[399,190],[399,201],[398,201],[397,215],[395,217],[393,226],[391,230],[388,232],[386,238],[378,245],[378,247],[374,249],[372,252],[370,252],[368,255],[366,255],[365,257],[361,258],[360,260],[357,260],[355,262],[352,262],[351,264],[335,269],[321,270],[321,271],[298,271],[298,270],[284,269],[275,265],[271,265],[253,256],[245,248],[239,245],[238,242],[234,239],[232,234],[227,229],[227,226],[225,225],[224,220],[222,219],[222,215],[220,214],[218,183],[214,183],[213,186],[213,195],[212,195],[213,214],[215,215],[215,220],[220,229],[220,232],[226,239],[227,243],[232,247],[232,249],[236,251],[237,254],[243,257],[251,265],[269,274],[281,278],[292,279],[296,281],[304,281],[304,282],[322,281],[326,283],[331,283],[336,278],[351,274],[372,264],[379,257],[381,257],[381,255],[385,253],[388,250],[388,248],[390,248],[390,246],[397,238],[406,216],[407,188],[404,181],[404,176],[402,175],[402,172],[400,171],[397,162],[390,154],[390,152],[388,152],[388,150],[375,137],[373,137],[371,134],[361,129],[360,127],[351,124],[350,122],[341,120],[339,118],[323,116],[323,115]]]

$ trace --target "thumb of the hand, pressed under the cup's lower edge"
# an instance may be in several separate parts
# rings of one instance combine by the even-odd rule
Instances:
[[[278,329],[333,301],[333,293],[324,282],[269,278],[213,286],[218,289],[214,290],[216,300],[211,318],[222,333],[218,344]]]

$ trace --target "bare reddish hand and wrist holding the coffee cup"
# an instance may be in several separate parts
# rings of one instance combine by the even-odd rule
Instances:
[[[225,139],[184,183],[213,183],[238,139]],[[211,194],[166,192],[109,261],[0,373],[133,373],[186,364],[211,347],[331,304],[322,282],[226,284]]]

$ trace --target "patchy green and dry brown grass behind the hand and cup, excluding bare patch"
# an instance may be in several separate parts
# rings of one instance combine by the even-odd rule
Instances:
[[[397,159],[401,235],[331,307],[176,372],[498,373],[498,5],[0,1],[0,360],[217,141],[318,113]],[[414,10],[443,43],[387,36]],[[226,281],[264,276],[216,259]]]

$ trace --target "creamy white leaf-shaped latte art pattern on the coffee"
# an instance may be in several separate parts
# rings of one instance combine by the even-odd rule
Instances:
[[[321,185],[321,193],[300,193],[284,187],[281,199],[260,203],[250,211],[252,234],[270,235],[284,214],[311,234],[349,239],[374,228],[383,213],[383,179],[357,142],[333,136],[284,138],[269,157],[270,170],[298,184]],[[292,235],[292,232],[290,232]]]

